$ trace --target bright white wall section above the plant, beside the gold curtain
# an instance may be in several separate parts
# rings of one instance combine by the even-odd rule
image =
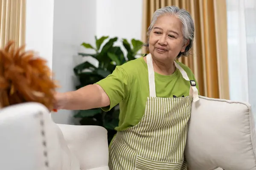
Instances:
[[[97,0],[98,36],[141,40],[143,0]]]

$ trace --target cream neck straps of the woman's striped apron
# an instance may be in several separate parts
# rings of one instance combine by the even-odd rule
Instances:
[[[150,97],[156,97],[154,67],[153,67],[152,56],[151,56],[150,53],[146,56],[146,59],[147,59],[147,65],[148,65],[149,96]],[[190,80],[188,75],[186,74],[186,71],[182,67],[180,67],[180,65],[176,61],[175,61],[175,67],[180,71],[183,79],[190,82],[189,95],[193,96],[193,101],[194,102],[198,101],[199,96],[198,96],[198,89],[196,88],[195,80]]]

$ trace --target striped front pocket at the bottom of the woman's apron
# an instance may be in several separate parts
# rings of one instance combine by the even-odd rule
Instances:
[[[178,163],[174,162],[164,162],[164,161],[154,161],[151,159],[143,158],[142,156],[137,156],[136,159],[136,170],[180,170],[183,161]]]

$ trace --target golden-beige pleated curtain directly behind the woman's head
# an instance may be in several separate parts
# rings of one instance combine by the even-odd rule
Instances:
[[[191,54],[179,60],[195,74],[202,96],[229,99],[227,64],[227,10],[225,0],[143,0],[143,37],[155,10],[165,6],[184,8],[195,22]]]

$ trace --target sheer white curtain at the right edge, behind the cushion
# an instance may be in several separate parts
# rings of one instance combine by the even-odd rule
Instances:
[[[226,1],[230,99],[249,102],[256,113],[256,0]]]

